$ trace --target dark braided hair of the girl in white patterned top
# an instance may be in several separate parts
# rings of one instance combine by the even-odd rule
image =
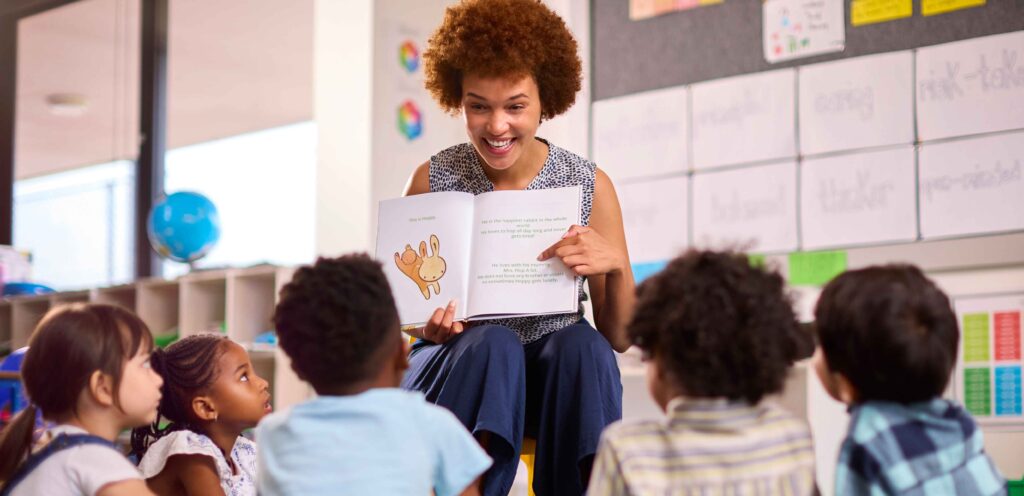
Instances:
[[[150,445],[176,430],[203,431],[191,401],[208,391],[217,380],[217,361],[227,342],[218,333],[194,334],[153,353],[150,365],[164,379],[160,389],[163,396],[153,424],[132,429],[132,455],[142,459]],[[161,427],[165,421],[169,423]]]

